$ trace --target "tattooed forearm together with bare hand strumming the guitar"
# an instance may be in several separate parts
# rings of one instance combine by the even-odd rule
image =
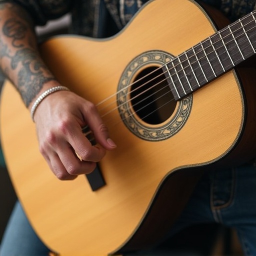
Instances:
[[[60,85],[39,56],[31,19],[21,7],[9,3],[0,4],[0,67],[32,113],[36,98],[49,87]],[[115,148],[95,105],[71,91],[47,95],[36,107],[33,119],[40,152],[59,179],[91,172],[105,150]],[[97,145],[82,133],[86,125]]]

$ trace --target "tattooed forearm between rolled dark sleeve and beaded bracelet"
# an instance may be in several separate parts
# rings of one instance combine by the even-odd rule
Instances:
[[[11,3],[0,4],[0,67],[16,86],[26,107],[44,87],[56,84],[39,56],[30,16]]]

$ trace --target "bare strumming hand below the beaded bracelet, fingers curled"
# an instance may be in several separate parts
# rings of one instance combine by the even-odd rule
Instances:
[[[61,180],[91,172],[106,150],[116,147],[96,107],[70,91],[57,91],[45,97],[36,108],[34,121],[39,150]],[[85,125],[92,131],[96,145],[82,133]]]

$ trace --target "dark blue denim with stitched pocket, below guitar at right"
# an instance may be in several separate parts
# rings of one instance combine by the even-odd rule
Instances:
[[[244,255],[256,255],[255,163],[205,172],[171,234],[189,225],[210,222],[233,227]]]

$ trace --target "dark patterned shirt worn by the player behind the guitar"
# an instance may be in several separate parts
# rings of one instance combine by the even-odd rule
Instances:
[[[103,37],[121,29],[147,0],[0,0],[26,8],[36,25],[72,13],[72,32]],[[222,11],[230,21],[249,13],[256,0],[201,0]],[[106,26],[110,24],[110,26]],[[111,27],[111,28],[110,28]]]

